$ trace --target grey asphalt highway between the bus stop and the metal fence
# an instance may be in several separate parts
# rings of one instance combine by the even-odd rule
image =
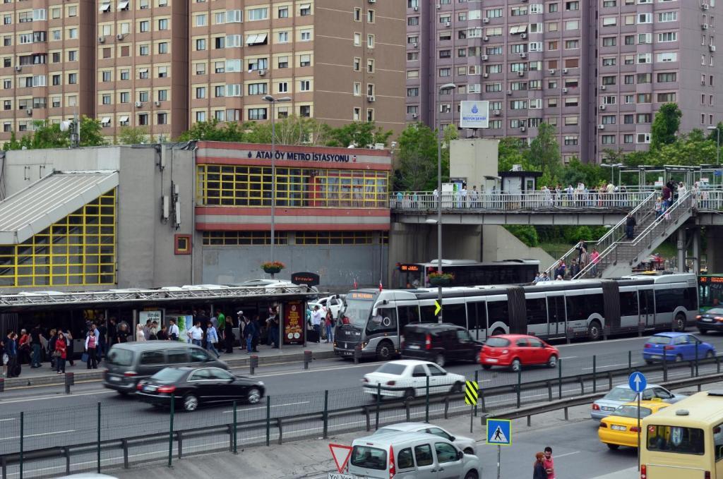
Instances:
[[[712,342],[723,352],[723,335],[709,335],[704,340]],[[633,364],[641,363],[640,351],[645,338],[623,338],[607,342],[573,343],[559,345],[562,357],[562,371],[565,376],[589,373],[592,371],[592,355],[597,356],[596,369],[623,368],[628,365],[628,350],[633,350]],[[330,410],[351,405],[372,404],[368,394],[361,392],[359,379],[363,374],[373,371],[378,363],[354,365],[350,361],[330,359],[314,361],[309,371],[304,371],[299,363],[267,366],[257,370],[257,377],[265,382],[271,396],[272,416],[283,416],[301,412],[320,412],[323,410],[323,391],[329,391]],[[474,371],[481,371],[474,364],[450,365],[448,370],[474,378]],[[701,367],[701,374],[710,371]],[[237,371],[246,372],[246,371]],[[523,382],[536,379],[556,379],[559,371],[544,367],[530,367],[523,371]],[[688,376],[689,369],[670,371],[669,378]],[[649,381],[660,381],[662,374],[649,374]],[[517,374],[500,370],[481,371],[479,380],[482,388],[500,384],[515,384]],[[620,381],[616,381],[620,382]],[[601,378],[599,384],[604,384]],[[586,390],[590,390],[586,384]],[[574,384],[565,384],[563,394],[579,392]],[[546,390],[523,392],[523,402],[545,400]],[[514,404],[514,394],[492,397],[489,407]],[[24,413],[25,449],[39,449],[46,446],[91,442],[97,438],[97,403],[101,402],[101,439],[114,439],[122,436],[163,433],[168,431],[168,413],[156,410],[150,405],[137,402],[133,397],[121,397],[115,392],[103,389],[98,383],[79,384],[73,387],[72,394],[62,394],[61,387],[41,387],[15,389],[0,394],[0,454],[17,451],[20,438],[20,413]],[[266,417],[266,405],[240,405],[237,410],[239,422],[263,420]],[[438,407],[438,406],[437,406]],[[455,404],[453,407],[463,407]],[[435,409],[435,406],[432,407]],[[388,414],[388,416],[385,416]],[[400,415],[397,412],[382,412],[384,417]],[[231,422],[231,407],[214,407],[199,410],[193,414],[177,414],[176,430],[221,426]],[[350,423],[363,424],[363,417],[332,418],[330,428],[353,426]],[[358,426],[358,425],[357,425]],[[284,436],[302,435],[309,430],[317,431],[320,421],[309,425],[287,426]],[[242,438],[254,439],[258,431],[241,433]],[[275,434],[275,432],[273,433]],[[245,436],[244,436],[245,435]],[[255,438],[257,440],[257,438]],[[495,459],[496,460],[496,459]]]

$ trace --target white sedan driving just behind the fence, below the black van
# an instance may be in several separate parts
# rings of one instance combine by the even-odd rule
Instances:
[[[410,359],[382,364],[377,371],[364,374],[361,382],[367,394],[412,399],[427,394],[427,378],[429,394],[461,392],[464,384],[460,374],[448,373],[429,361]]]

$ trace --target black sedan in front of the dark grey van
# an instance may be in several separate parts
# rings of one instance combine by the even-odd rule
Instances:
[[[265,392],[264,384],[255,379],[234,376],[221,368],[165,368],[138,383],[136,396],[156,406],[170,406],[194,411],[199,405],[223,402],[256,404]]]

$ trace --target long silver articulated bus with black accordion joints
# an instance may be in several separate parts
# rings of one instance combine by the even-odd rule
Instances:
[[[388,360],[400,350],[406,324],[437,322],[436,288],[353,290],[334,335],[334,352]],[[505,333],[599,340],[610,332],[683,331],[698,314],[696,275],[633,275],[617,280],[548,281],[536,285],[442,288],[442,319],[469,329],[476,339]]]

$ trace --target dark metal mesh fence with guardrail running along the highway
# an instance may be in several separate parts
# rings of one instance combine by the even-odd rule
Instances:
[[[480,387],[476,409],[495,411],[604,392],[632,371],[646,371],[651,383],[720,373],[718,357],[669,359],[648,365],[639,351],[629,351],[627,355],[561,359],[557,368],[529,367],[516,373],[475,371],[474,378],[467,379],[478,381]],[[425,385],[411,400],[382,400],[360,388],[273,395],[257,405],[233,404],[194,413],[140,402],[123,407],[98,402],[87,409],[0,415],[2,478],[100,472],[145,462],[172,465],[191,454],[239,454],[252,444],[269,446],[342,431],[372,431],[390,423],[470,412],[463,394],[428,394],[428,390]],[[64,426],[56,431],[56,425]]]

